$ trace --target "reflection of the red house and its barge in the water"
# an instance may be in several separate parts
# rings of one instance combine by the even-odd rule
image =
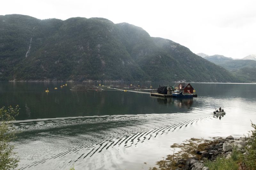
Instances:
[[[177,98],[157,98],[157,102],[161,105],[175,105],[179,107],[191,107],[193,104],[192,99],[177,99]]]

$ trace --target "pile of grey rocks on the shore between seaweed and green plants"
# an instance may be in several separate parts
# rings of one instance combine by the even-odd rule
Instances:
[[[247,144],[246,137],[234,139],[234,137],[228,136],[225,139],[219,139],[216,144],[211,144],[204,148],[204,151],[195,151],[197,156],[179,159],[175,170],[209,170],[209,167],[204,166],[205,160],[214,161],[218,156],[230,159],[235,148],[236,152],[248,154],[245,150]]]

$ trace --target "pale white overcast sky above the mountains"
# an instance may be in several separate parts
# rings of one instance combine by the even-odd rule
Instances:
[[[256,54],[255,0],[2,0],[0,15],[39,19],[102,17],[142,27],[194,53]]]

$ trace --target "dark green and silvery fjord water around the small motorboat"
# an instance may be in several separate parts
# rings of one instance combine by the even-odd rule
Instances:
[[[13,143],[20,169],[148,169],[172,154],[173,143],[241,137],[256,122],[255,84],[191,83],[198,98],[183,100],[74,92],[67,84],[0,82],[1,106],[20,106]],[[226,115],[213,116],[219,107]]]

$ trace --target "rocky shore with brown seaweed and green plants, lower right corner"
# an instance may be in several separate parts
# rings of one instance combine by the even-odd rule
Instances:
[[[256,125],[248,137],[191,138],[173,144],[173,153],[149,170],[256,170]]]

